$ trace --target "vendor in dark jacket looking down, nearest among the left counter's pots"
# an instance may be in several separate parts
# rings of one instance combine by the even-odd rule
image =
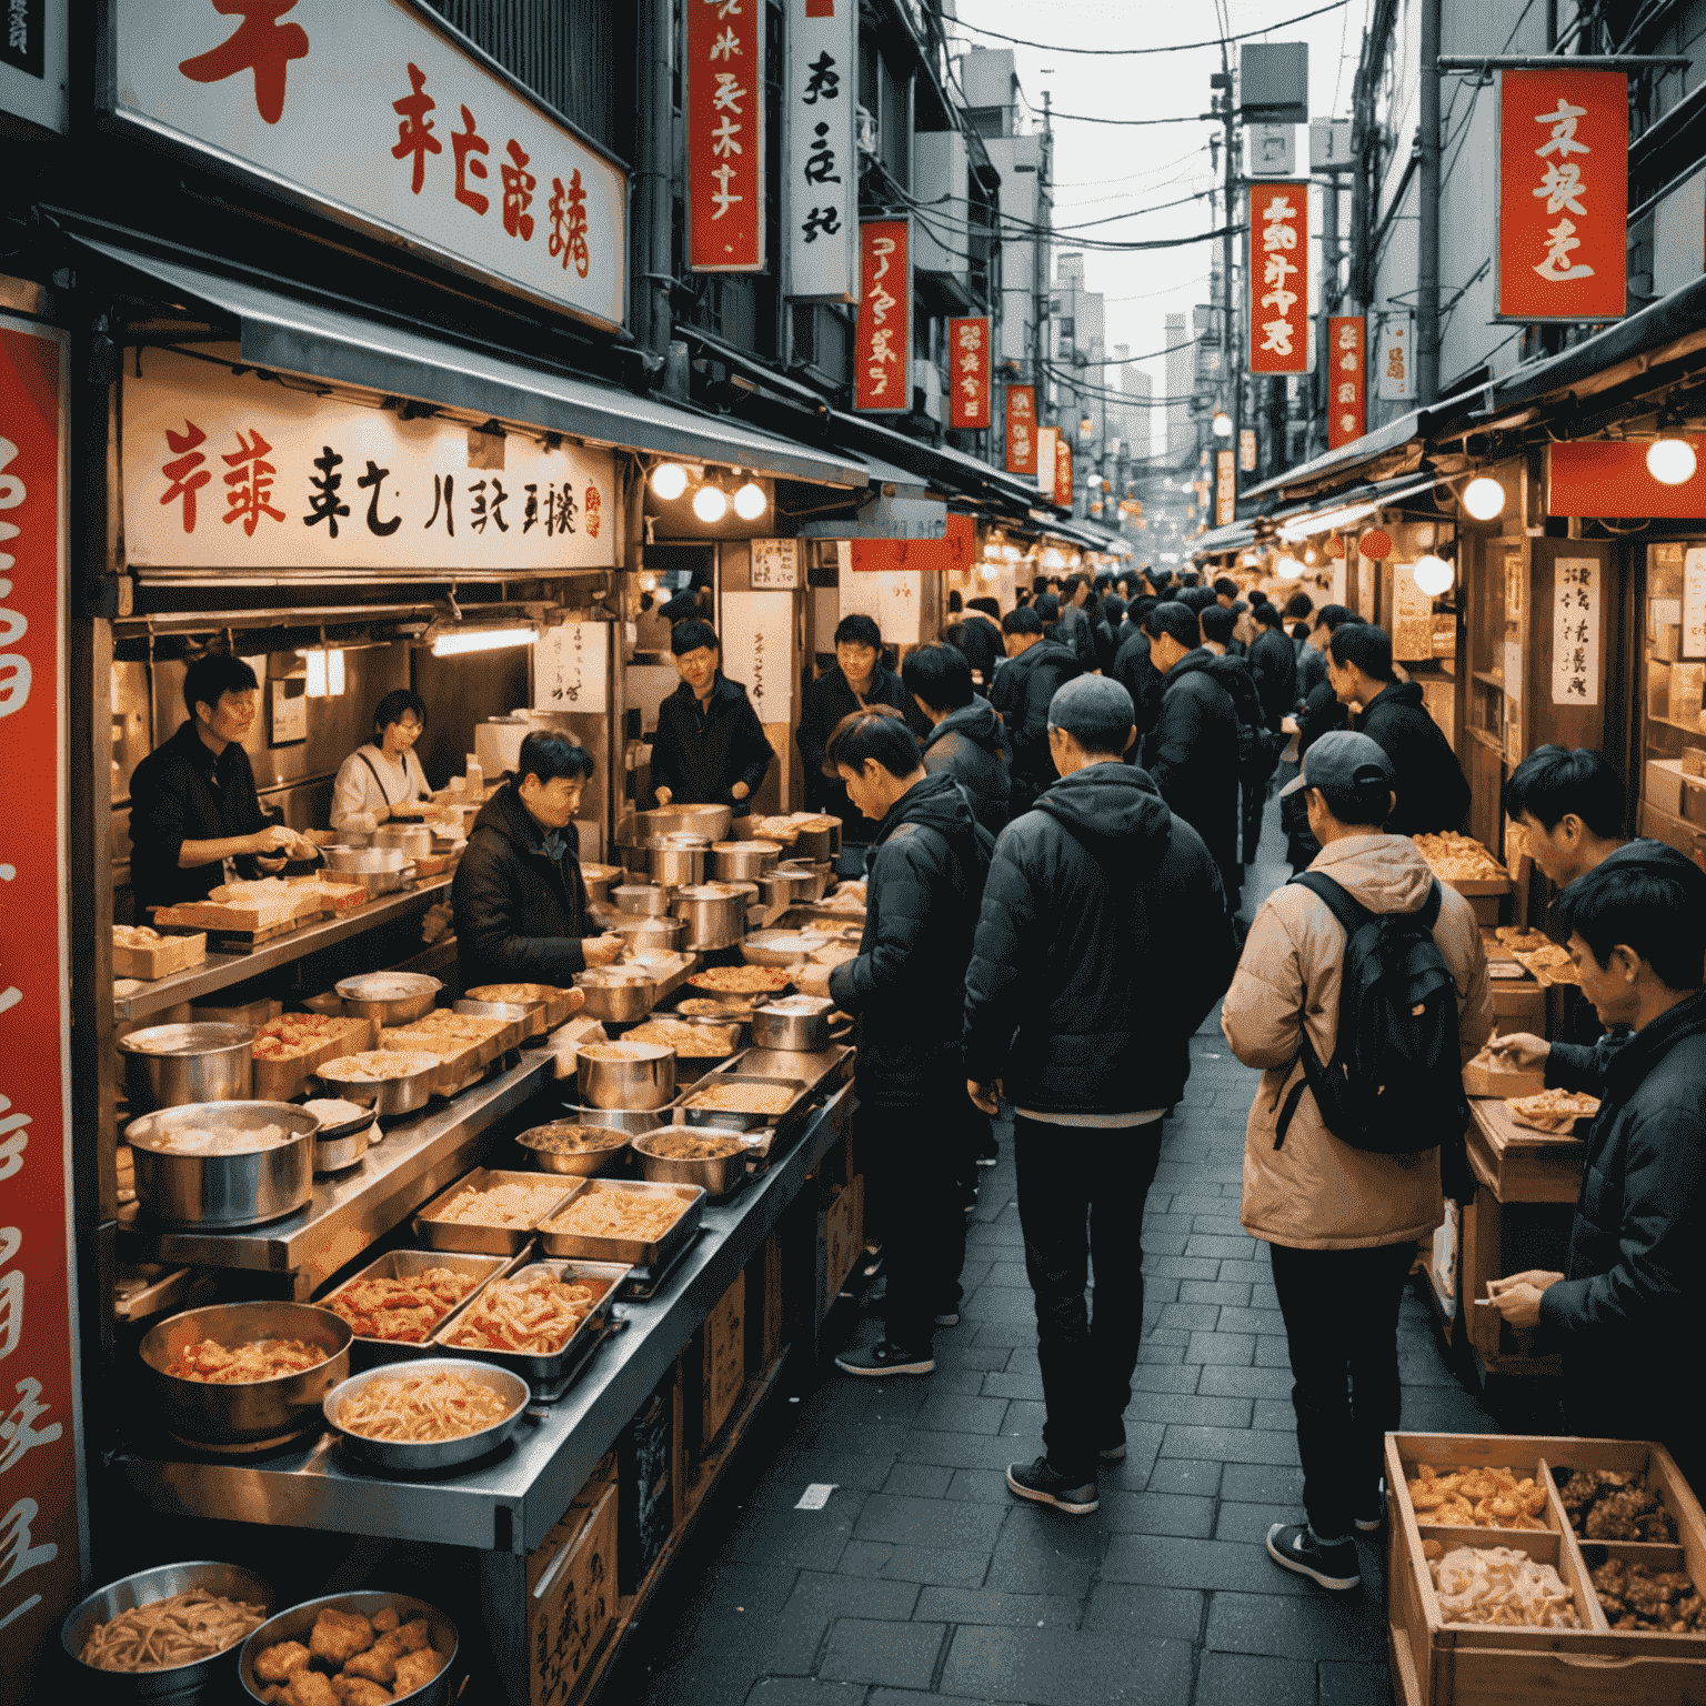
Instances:
[[[536,730],[522,740],[512,778],[474,819],[450,885],[464,989],[563,986],[621,954],[623,938],[599,935],[587,916],[575,812],[590,775],[585,747]]]

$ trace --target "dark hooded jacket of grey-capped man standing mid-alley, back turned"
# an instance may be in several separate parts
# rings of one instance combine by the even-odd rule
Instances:
[[[966,972],[966,1075],[1036,1112],[1169,1107],[1237,947],[1203,838],[1129,764],[1008,824]]]

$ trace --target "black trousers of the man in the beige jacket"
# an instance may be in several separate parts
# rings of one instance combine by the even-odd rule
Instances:
[[[1322,1541],[1375,1503],[1385,1435],[1399,1425],[1397,1307],[1416,1245],[1268,1245],[1291,1351],[1303,1510]]]

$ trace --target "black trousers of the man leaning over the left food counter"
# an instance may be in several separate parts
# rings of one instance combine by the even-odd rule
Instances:
[[[882,1240],[887,1338],[908,1351],[925,1349],[935,1317],[952,1314],[960,1300],[966,1121],[955,1090],[964,1102],[964,1075],[920,1105],[862,1104],[853,1116],[867,1235]]]

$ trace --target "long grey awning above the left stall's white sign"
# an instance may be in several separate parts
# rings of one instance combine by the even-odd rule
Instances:
[[[290,295],[273,288],[271,280],[263,283],[266,275],[237,278],[106,239],[78,235],[77,241],[106,261],[152,280],[157,293],[191,297],[234,319],[242,360],[259,368],[773,478],[853,488],[867,483],[865,464],[855,457],[792,444],[730,416],[701,415],[592,379],[466,350],[322,300]]]

